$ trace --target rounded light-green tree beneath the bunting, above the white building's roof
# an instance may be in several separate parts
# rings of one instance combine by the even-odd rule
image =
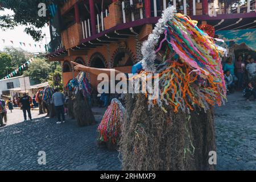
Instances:
[[[30,79],[36,84],[48,81],[48,75],[51,71],[51,65],[47,63],[46,59],[37,57],[28,66],[27,71],[24,72],[24,76],[30,76]]]

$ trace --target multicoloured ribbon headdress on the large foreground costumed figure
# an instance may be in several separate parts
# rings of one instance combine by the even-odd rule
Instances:
[[[226,88],[220,59],[223,49],[193,20],[179,13],[167,21],[163,35],[159,47],[155,48],[162,60],[154,65],[144,64],[154,66],[155,73],[159,73],[159,97],[148,100],[148,109],[158,104],[167,113],[166,105],[172,105],[175,112],[181,109],[190,113],[197,107],[206,111],[210,105],[224,104]],[[150,47],[143,50],[148,51]],[[146,59],[144,61],[147,63]],[[139,77],[147,77],[148,73],[144,71]]]

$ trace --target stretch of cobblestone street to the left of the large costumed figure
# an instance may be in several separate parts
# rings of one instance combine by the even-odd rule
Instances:
[[[69,120],[57,125],[55,119],[37,113],[32,111],[32,122],[20,122],[21,110],[8,113],[9,121],[14,119],[16,123],[0,128],[0,170],[121,169],[117,151],[97,147],[98,123],[77,127]],[[100,119],[96,117],[97,122]],[[46,152],[46,165],[38,164],[39,151]]]

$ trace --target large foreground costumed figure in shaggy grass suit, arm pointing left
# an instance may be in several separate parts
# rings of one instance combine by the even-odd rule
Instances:
[[[226,100],[220,59],[225,50],[196,23],[168,7],[143,43],[143,71],[129,80],[151,88],[142,84],[147,92],[126,94],[119,142],[125,170],[214,169],[209,164],[210,151],[216,151],[213,106]],[[72,64],[94,75],[120,73]]]

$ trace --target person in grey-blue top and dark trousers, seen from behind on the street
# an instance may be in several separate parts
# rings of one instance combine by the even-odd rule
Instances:
[[[58,121],[57,124],[61,123],[60,116],[62,118],[63,123],[65,122],[65,114],[64,114],[64,102],[65,96],[63,93],[59,92],[59,89],[55,89],[52,94],[52,101],[55,106],[55,111],[57,113]]]

